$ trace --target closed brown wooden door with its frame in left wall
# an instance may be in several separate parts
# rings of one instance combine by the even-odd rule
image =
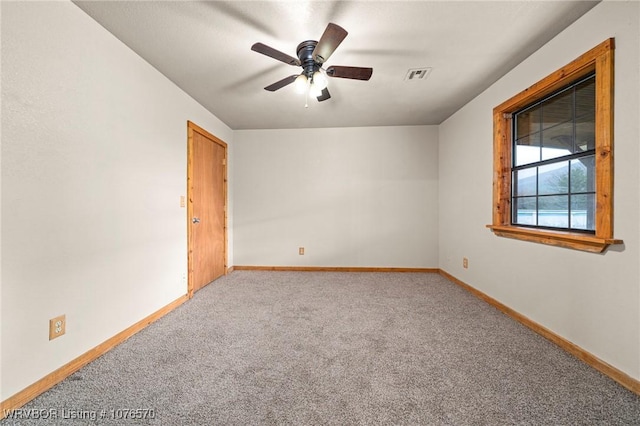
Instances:
[[[227,144],[188,123],[189,297],[227,272]]]

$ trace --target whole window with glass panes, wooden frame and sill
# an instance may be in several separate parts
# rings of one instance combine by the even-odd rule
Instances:
[[[602,252],[613,238],[609,39],[494,108],[498,236]]]

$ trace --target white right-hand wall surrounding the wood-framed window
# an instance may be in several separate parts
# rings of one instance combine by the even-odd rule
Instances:
[[[440,267],[640,379],[640,3],[603,2],[440,126]],[[494,236],[492,109],[609,37],[615,237],[603,255]],[[462,257],[469,257],[469,269]]]

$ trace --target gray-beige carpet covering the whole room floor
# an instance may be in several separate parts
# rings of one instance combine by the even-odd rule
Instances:
[[[428,273],[236,271],[23,408],[57,419],[0,425],[640,424],[640,397]]]

